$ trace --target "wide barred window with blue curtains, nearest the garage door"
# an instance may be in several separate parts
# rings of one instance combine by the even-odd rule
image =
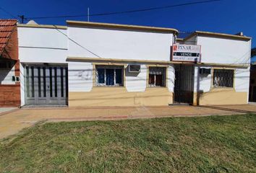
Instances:
[[[96,66],[96,86],[124,86],[123,66]]]

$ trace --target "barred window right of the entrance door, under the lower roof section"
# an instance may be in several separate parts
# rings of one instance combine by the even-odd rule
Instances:
[[[214,69],[213,86],[215,87],[233,87],[234,70]]]

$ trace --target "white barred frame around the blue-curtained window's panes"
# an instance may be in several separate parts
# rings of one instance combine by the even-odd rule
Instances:
[[[104,69],[104,84],[98,83],[98,68]],[[114,85],[106,85],[106,69],[114,69]],[[116,84],[116,69],[121,69],[121,84]],[[96,65],[95,66],[95,86],[124,86],[124,66]]]

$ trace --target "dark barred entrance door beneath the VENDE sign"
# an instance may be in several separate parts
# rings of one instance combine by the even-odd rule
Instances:
[[[194,97],[195,66],[176,64],[174,69],[174,102],[192,104]]]

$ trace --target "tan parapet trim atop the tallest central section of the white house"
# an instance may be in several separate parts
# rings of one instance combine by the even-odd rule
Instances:
[[[139,25],[121,25],[121,24],[101,23],[101,22],[82,22],[82,21],[73,21],[73,20],[67,20],[67,25],[114,28],[114,29],[125,29],[125,30],[142,30],[142,31],[153,31],[153,32],[169,32],[169,33],[179,32],[174,28],[167,28],[167,27],[147,27],[147,26],[139,26]]]

